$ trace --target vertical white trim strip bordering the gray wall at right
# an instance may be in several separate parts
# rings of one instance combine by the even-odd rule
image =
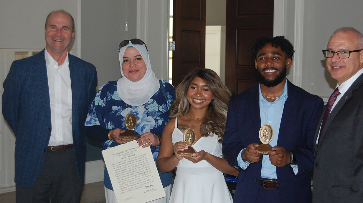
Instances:
[[[304,0],[295,0],[295,27],[294,27],[294,71],[293,83],[302,86],[302,57],[303,57],[303,27],[304,27]]]

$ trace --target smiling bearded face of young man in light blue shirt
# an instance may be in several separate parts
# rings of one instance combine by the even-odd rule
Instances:
[[[286,57],[286,53],[272,46],[271,43],[266,43],[257,52],[257,59],[254,60],[260,76],[260,82],[266,87],[274,87],[280,84],[286,77],[286,70],[291,65],[291,58]]]

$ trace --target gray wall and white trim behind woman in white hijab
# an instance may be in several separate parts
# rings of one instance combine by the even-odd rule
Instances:
[[[146,43],[156,77],[166,79],[167,23],[168,0],[82,0],[81,56],[96,66],[98,87],[121,78],[118,45],[136,37]]]

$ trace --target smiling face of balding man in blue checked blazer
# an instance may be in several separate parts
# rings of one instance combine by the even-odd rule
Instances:
[[[46,50],[50,55],[61,55],[68,51],[74,32],[69,14],[57,11],[50,14],[44,30]]]

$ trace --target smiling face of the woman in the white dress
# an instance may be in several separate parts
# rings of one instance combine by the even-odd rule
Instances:
[[[187,98],[190,108],[208,109],[209,103],[214,98],[211,88],[199,77],[195,77],[189,84]]]

